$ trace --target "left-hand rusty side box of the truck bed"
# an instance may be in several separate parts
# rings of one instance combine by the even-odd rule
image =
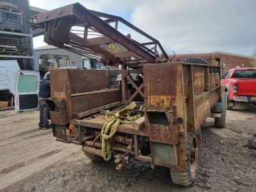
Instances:
[[[52,117],[59,115],[59,122],[70,122],[77,113],[120,101],[120,88],[111,88],[114,86],[111,76],[116,73],[116,70],[51,70],[52,97],[47,100],[48,105],[52,105],[52,110],[60,109],[57,102],[62,101],[65,111],[58,111],[62,116],[52,111],[50,114]]]

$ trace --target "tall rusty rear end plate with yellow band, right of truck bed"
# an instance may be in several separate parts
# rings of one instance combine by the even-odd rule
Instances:
[[[144,101],[146,110],[173,111],[173,119],[182,119],[179,132],[186,133],[182,63],[144,66]],[[146,127],[148,121],[145,120]]]

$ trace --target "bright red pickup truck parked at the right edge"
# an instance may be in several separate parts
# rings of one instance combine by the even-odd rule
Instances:
[[[221,85],[226,86],[227,109],[233,109],[237,103],[256,106],[256,68],[232,68]]]

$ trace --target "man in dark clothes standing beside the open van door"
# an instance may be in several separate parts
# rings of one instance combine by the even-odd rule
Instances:
[[[49,108],[45,102],[45,99],[51,97],[50,88],[50,73],[46,74],[46,77],[40,81],[39,86],[39,111],[40,111],[40,121],[39,129],[49,129],[48,114]]]

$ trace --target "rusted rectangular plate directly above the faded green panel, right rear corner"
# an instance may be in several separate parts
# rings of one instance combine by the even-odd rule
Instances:
[[[149,125],[149,140],[157,143],[176,145],[179,143],[179,125]]]

